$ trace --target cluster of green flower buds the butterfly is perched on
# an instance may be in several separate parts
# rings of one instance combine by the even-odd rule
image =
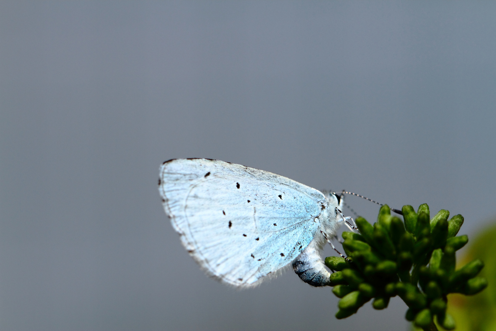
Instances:
[[[475,260],[455,270],[455,252],[468,242],[466,235],[456,236],[463,224],[461,215],[448,220],[449,211],[442,209],[431,219],[426,203],[417,212],[405,205],[402,212],[403,221],[383,205],[373,225],[358,217],[360,234],[343,232],[348,261],[325,259],[336,271],[330,276],[332,292],[341,298],[336,318],[356,313],[371,299],[373,308],[384,309],[398,295],[409,307],[408,321],[428,330],[436,316],[439,325],[452,330],[446,295],[472,295],[486,288],[486,279],[477,277],[484,264]]]

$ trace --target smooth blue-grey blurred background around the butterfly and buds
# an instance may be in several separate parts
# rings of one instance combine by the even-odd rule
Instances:
[[[495,17],[494,1],[2,1],[0,329],[407,330],[398,298],[338,321],[331,288],[292,271],[243,291],[207,278],[158,167],[207,157],[427,202],[472,235],[496,215]]]

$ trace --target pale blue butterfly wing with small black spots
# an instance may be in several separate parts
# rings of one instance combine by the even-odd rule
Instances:
[[[183,245],[211,276],[250,286],[290,264],[320,232],[319,191],[267,171],[218,160],[177,159],[159,191]]]

